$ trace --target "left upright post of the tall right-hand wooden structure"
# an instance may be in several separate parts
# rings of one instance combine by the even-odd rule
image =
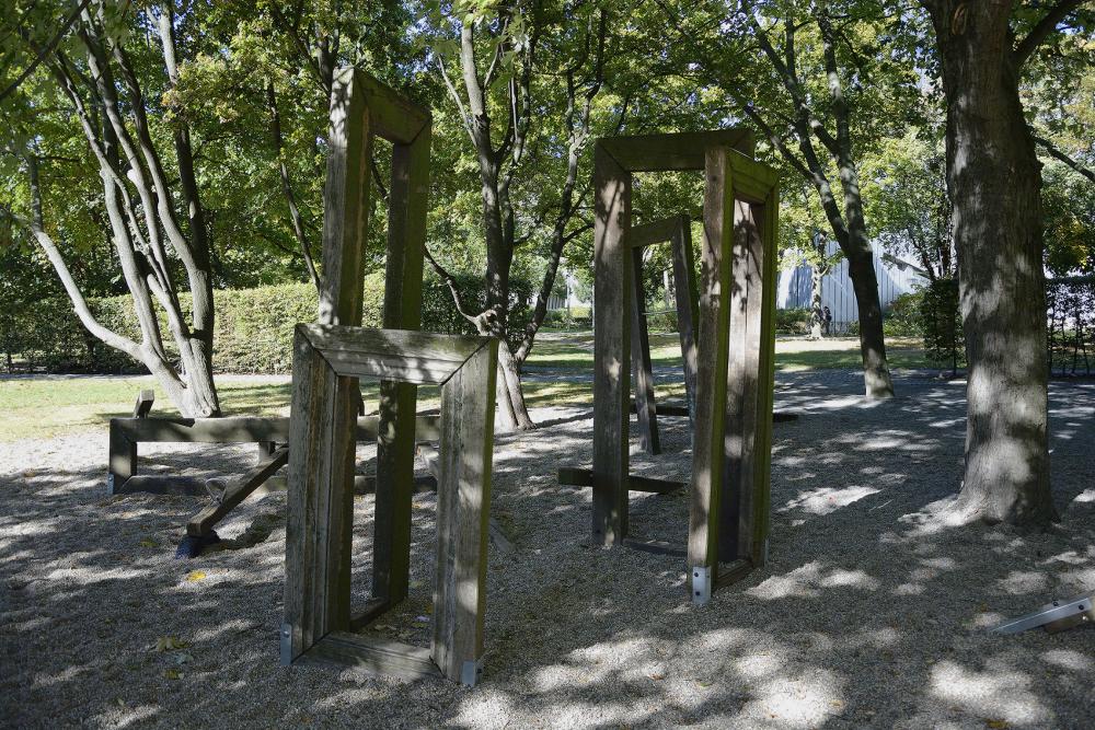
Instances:
[[[631,174],[607,149],[593,149],[593,509],[592,538],[615,545],[627,534],[627,403],[631,384]]]

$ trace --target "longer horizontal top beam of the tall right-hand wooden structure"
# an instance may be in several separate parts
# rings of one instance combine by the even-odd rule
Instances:
[[[708,148],[731,148],[751,155],[756,143],[747,127],[718,131],[603,137],[599,147],[610,154],[624,172],[702,170]]]

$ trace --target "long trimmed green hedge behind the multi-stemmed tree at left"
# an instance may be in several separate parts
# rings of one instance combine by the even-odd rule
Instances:
[[[383,273],[365,281],[362,324],[379,327],[383,311]],[[460,290],[469,308],[484,301],[482,279],[461,277]],[[530,312],[526,305],[531,287],[522,280],[510,282],[511,331],[520,333]],[[181,297],[189,318],[191,297]],[[140,331],[131,299],[113,297],[88,302],[104,326],[139,341]],[[298,322],[315,318],[318,297],[310,283],[286,283],[255,289],[218,290],[214,293],[216,329],[214,370],[231,373],[288,373],[292,364],[292,329]],[[0,308],[0,349],[9,369],[49,372],[142,372],[143,366],[92,337],[80,324],[67,299],[46,299],[33,306]],[[166,317],[160,312],[164,346],[174,354]],[[423,282],[423,329],[472,334],[474,327],[452,304],[447,286],[427,277]]]

